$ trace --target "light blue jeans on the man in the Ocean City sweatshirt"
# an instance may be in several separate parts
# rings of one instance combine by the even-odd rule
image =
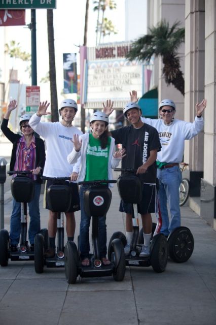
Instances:
[[[157,169],[159,179],[158,200],[162,215],[161,233],[168,236],[171,231],[181,225],[181,214],[179,208],[178,188],[182,181],[182,173],[178,166],[171,168]],[[167,203],[170,209],[170,221],[167,210]]]

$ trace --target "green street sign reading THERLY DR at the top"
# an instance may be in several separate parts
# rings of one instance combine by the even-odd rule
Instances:
[[[0,9],[55,9],[56,0],[0,0]]]

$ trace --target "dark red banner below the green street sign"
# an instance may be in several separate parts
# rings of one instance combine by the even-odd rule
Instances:
[[[0,10],[0,26],[25,25],[25,10]]]

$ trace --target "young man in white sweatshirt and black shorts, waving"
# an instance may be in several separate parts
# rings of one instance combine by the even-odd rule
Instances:
[[[79,164],[70,165],[67,163],[67,155],[70,153],[74,145],[71,142],[75,134],[81,135],[82,132],[72,125],[74,117],[77,113],[77,103],[74,100],[66,99],[60,103],[59,114],[60,122],[41,122],[43,115],[48,115],[47,112],[49,103],[43,102],[40,104],[37,113],[32,115],[29,120],[29,125],[40,136],[45,139],[47,152],[43,176],[47,177],[70,177],[71,181],[76,181],[79,174]],[[77,183],[65,182],[72,192],[72,202],[66,216],[66,233],[68,240],[74,240],[76,227],[74,212],[80,210],[80,198]],[[47,188],[52,184],[52,180],[47,181]],[[49,210],[48,220],[48,235],[49,248],[45,252],[45,257],[55,256],[55,237],[57,232],[57,212],[49,209],[49,204],[46,201],[46,209]]]

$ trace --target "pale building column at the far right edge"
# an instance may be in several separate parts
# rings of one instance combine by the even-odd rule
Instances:
[[[201,182],[201,216],[216,229],[216,3],[205,1],[204,176]]]

